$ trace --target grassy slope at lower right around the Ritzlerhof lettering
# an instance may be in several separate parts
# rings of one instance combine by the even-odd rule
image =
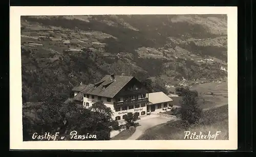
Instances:
[[[217,140],[228,140],[228,105],[203,112],[199,123],[186,127],[181,120],[169,121],[147,129],[138,140],[184,140],[185,131],[197,135],[221,132]]]

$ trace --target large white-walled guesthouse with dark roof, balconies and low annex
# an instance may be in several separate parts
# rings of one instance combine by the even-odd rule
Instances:
[[[129,112],[145,116],[148,112],[167,106],[172,101],[162,92],[149,91],[133,76],[114,74],[105,75],[99,82],[89,85],[80,84],[72,89],[73,100],[84,108],[92,106],[94,101],[102,100],[106,107],[113,112],[112,118],[119,122]],[[152,95],[152,98],[150,98]],[[165,95],[165,96],[164,96]],[[160,99],[158,101],[158,98]],[[150,102],[150,100],[154,102]],[[168,104],[169,105],[169,104]]]

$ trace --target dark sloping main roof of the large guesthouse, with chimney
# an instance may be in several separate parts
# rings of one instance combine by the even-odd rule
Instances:
[[[108,87],[103,89],[103,86],[101,84],[98,87],[91,88],[89,91],[83,92],[83,93],[113,98],[133,78],[135,78],[135,77],[133,77],[133,76],[115,76],[115,81],[113,83],[111,83],[111,76],[105,75],[99,82],[106,81],[106,83],[111,83]]]

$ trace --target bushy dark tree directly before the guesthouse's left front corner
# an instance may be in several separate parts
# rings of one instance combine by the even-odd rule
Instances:
[[[102,101],[93,102],[89,109],[77,106],[74,102],[62,111],[66,125],[62,133],[76,130],[80,135],[96,135],[95,140],[110,140],[112,112]]]

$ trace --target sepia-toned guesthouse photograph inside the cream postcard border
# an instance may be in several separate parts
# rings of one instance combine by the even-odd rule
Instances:
[[[229,69],[237,65],[228,58],[236,51],[228,48],[237,45],[229,45],[227,13],[19,19],[22,102],[15,106],[22,106],[23,142],[229,141],[236,134],[229,92],[237,85],[229,81],[237,76]]]

